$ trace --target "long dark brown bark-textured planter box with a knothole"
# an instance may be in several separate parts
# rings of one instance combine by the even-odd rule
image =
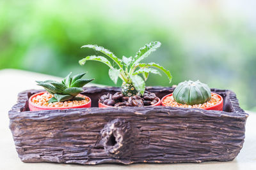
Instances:
[[[228,161],[240,152],[248,114],[230,90],[212,89],[224,99],[223,111],[189,108],[97,108],[102,94],[116,87],[88,87],[94,108],[29,111],[21,92],[9,111],[10,129],[23,162],[77,164]],[[157,97],[171,87],[148,87]]]

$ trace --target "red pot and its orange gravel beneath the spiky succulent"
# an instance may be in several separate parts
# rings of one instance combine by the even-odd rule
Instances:
[[[54,103],[48,103],[49,99],[53,97],[52,94],[48,92],[40,92],[34,94],[29,98],[29,110],[30,111],[38,111],[38,110],[64,110],[70,108],[90,108],[91,107],[91,99],[82,94],[78,94],[77,97],[83,97],[84,100],[76,101],[60,101]]]

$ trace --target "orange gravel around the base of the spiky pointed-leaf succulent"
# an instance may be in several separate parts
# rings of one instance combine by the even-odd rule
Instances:
[[[32,101],[32,103],[34,103],[38,106],[48,106],[48,107],[81,106],[81,105],[89,102],[89,99],[86,96],[78,94],[77,97],[84,97],[85,99],[83,101],[64,101],[64,102],[61,101],[61,102],[47,103],[49,101],[49,99],[51,99],[51,97],[53,97],[53,95],[46,92],[42,95],[33,97],[33,99],[31,101]]]

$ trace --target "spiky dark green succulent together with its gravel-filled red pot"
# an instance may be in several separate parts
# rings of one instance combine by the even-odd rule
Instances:
[[[80,94],[83,86],[94,79],[82,79],[86,73],[71,77],[71,73],[61,82],[54,80],[36,81],[46,92],[29,97],[29,110],[63,110],[70,108],[90,108],[90,97]]]

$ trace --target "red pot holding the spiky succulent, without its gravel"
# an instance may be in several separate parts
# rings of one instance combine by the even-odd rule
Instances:
[[[29,97],[28,105],[29,105],[29,110],[30,111],[39,111],[39,110],[67,110],[67,109],[72,109],[72,108],[90,108],[92,104],[92,100],[90,97],[87,97],[89,99],[88,103],[85,103],[83,105],[79,106],[67,106],[67,107],[49,107],[49,106],[38,106],[35,103],[32,102],[32,99],[38,95],[42,95],[45,92],[39,92],[36,94],[33,94],[31,97]]]

